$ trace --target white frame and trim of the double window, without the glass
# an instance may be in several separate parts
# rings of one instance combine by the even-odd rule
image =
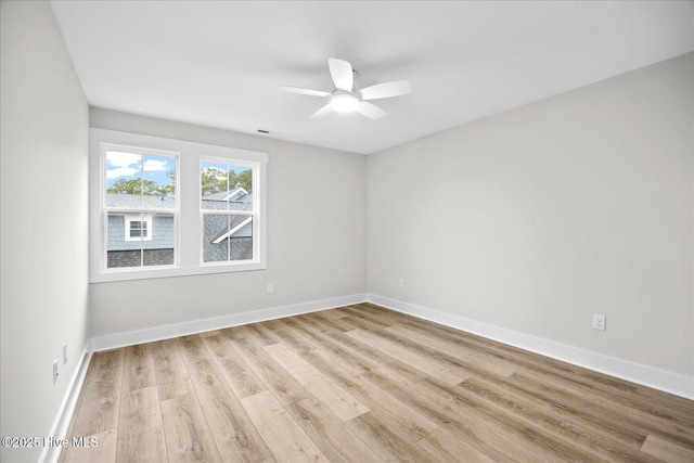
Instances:
[[[267,269],[267,164],[268,154],[159,137],[105,129],[90,129],[89,158],[89,281],[92,283],[226,273]],[[105,155],[104,146],[118,145],[145,154],[177,153],[176,262],[162,267],[106,268]],[[203,215],[201,175],[203,159],[255,166],[254,171],[254,256],[250,260],[203,262]],[[128,213],[130,214],[130,213]],[[152,232],[152,228],[150,228]],[[151,233],[150,233],[151,234]]]

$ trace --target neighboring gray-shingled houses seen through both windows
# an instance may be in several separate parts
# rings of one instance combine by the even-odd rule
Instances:
[[[107,267],[150,267],[175,263],[176,223],[172,195],[106,193],[106,205],[127,211],[110,213]],[[253,193],[243,188],[202,197],[204,214],[203,261],[253,258],[253,223],[249,216],[229,211],[250,210]],[[171,214],[166,210],[170,209]],[[152,213],[141,213],[151,210]],[[156,211],[155,211],[156,210]],[[219,211],[215,214],[215,211]],[[221,213],[223,211],[223,214]]]

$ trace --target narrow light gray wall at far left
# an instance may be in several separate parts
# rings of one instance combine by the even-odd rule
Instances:
[[[0,16],[0,435],[48,437],[88,336],[89,113],[51,7],[2,1]]]

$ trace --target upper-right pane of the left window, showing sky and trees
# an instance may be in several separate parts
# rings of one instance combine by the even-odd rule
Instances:
[[[142,164],[143,206],[147,209],[176,208],[176,159],[144,155]]]

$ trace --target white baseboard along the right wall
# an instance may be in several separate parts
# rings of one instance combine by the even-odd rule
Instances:
[[[387,307],[398,312],[473,333],[488,339],[498,340],[510,346],[648,386],[686,399],[694,399],[694,377],[616,359],[578,347],[476,322],[463,317],[439,312],[375,294],[368,294],[367,298],[370,303]]]

